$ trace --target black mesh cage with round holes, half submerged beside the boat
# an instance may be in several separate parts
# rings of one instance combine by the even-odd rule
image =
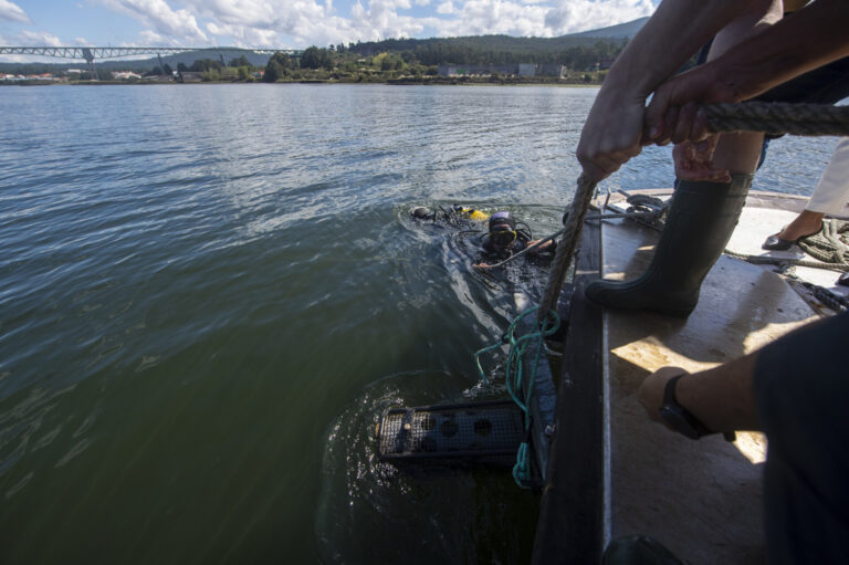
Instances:
[[[401,462],[512,464],[525,439],[511,400],[394,408],[377,425],[380,459]]]

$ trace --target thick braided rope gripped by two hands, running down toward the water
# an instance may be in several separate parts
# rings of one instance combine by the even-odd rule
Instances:
[[[708,117],[709,127],[714,133],[763,132],[772,135],[849,136],[849,106],[745,102],[704,104],[701,111]],[[595,189],[595,182],[584,175],[578,177],[578,189],[572,201],[569,219],[563,230],[563,243],[557,245],[548,285],[537,312],[539,323],[543,323],[549,311],[557,312],[560,290],[580,239],[584,218]]]

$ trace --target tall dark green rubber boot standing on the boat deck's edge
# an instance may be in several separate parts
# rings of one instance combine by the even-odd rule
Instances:
[[[586,296],[611,308],[689,316],[702,281],[731,239],[751,186],[752,175],[734,175],[731,182],[680,181],[646,272],[633,281],[595,281]]]

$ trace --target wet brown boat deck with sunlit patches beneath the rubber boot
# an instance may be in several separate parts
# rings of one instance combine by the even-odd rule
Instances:
[[[798,197],[753,193],[729,248],[740,253],[765,254],[761,242],[788,223],[804,203],[805,199]],[[606,220],[595,231],[600,231],[598,257],[579,255],[578,290],[581,279],[597,276],[590,272],[594,262],[607,279],[639,275],[659,237],[657,230],[629,219]],[[585,234],[585,255],[596,253],[593,237],[598,237],[593,230]],[[783,253],[801,258],[798,250]],[[558,552],[570,553],[568,540],[551,541],[553,532],[563,527],[597,527],[595,543],[601,548],[621,536],[649,535],[679,558],[695,565],[763,562],[761,477],[765,438],[738,432],[734,443],[721,436],[691,441],[649,420],[637,400],[637,391],[642,380],[660,367],[673,365],[690,372],[713,367],[826,313],[821,305],[804,300],[772,269],[773,265],[754,265],[723,255],[704,281],[699,305],[686,320],[649,312],[581,307],[583,293],[576,294],[570,333],[585,323],[591,325],[593,316],[600,318],[601,406],[594,406],[591,397],[583,401],[558,399],[572,402],[570,411],[577,414],[567,415],[558,407],[554,440],[558,452],[552,460],[556,465],[572,467],[591,461],[594,456],[587,452],[579,460],[576,458],[575,440],[566,439],[569,432],[564,429],[579,418],[598,418],[604,436],[602,447],[598,448],[602,474],[597,488],[601,493],[581,499],[575,486],[564,484],[563,472],[551,473],[537,529],[536,563],[578,562],[569,556],[549,559]],[[797,274],[846,293],[843,287],[834,286],[839,275],[834,271],[797,268]],[[568,347],[567,338],[567,352]],[[562,395],[570,394],[570,381],[586,377],[575,370],[574,366],[564,366]],[[564,420],[572,423],[564,426]],[[572,454],[566,449],[573,449]],[[601,509],[593,515],[591,506],[599,502]],[[564,503],[573,508],[558,509]],[[600,551],[597,548],[596,556]]]

